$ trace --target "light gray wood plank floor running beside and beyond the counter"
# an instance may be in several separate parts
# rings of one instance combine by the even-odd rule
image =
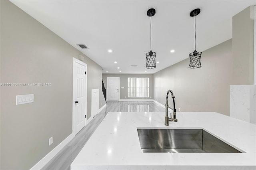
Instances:
[[[107,107],[96,115],[88,125],[82,128],[82,130],[42,168],[42,170],[70,170],[70,164],[108,112],[128,111],[164,112],[165,109],[153,101],[107,101]]]

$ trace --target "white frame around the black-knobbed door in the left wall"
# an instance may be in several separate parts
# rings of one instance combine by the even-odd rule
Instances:
[[[76,95],[74,94],[75,81],[76,81],[76,79],[75,79],[76,71],[74,70],[74,68],[75,68],[74,64],[75,63],[79,63],[81,65],[84,65],[85,71],[86,71],[86,74],[84,75],[84,81],[85,81],[85,83],[84,83],[84,85],[85,85],[85,88],[84,88],[84,99],[85,99],[84,106],[86,108],[85,109],[86,118],[84,118],[84,126],[86,125],[86,120],[88,118],[87,117],[87,74],[88,74],[87,73],[87,64],[73,57],[73,62],[72,62],[72,65],[73,65],[73,67],[72,67],[72,69],[73,69],[73,77],[72,77],[72,79],[73,79],[73,85],[72,85],[72,93],[73,93],[73,97],[72,97],[72,123],[73,123],[72,133],[74,135],[76,135],[75,134],[76,133],[76,119],[75,119],[75,113],[74,113],[74,109],[75,109],[75,102],[74,101],[76,100]]]

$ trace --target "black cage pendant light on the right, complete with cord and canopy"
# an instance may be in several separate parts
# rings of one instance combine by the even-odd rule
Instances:
[[[196,16],[198,14],[200,14],[200,9],[199,8],[197,8],[195,10],[192,10],[190,12],[190,16],[195,17],[195,51],[189,54],[190,63],[189,63],[188,68],[190,68],[190,69],[195,69],[195,68],[202,67],[201,66],[201,61],[200,61],[202,52],[196,51]]]

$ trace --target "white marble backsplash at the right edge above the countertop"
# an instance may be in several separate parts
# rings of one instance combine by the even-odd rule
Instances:
[[[230,85],[230,117],[256,124],[256,85]]]

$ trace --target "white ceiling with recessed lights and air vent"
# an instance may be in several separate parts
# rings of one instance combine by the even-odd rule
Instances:
[[[201,9],[196,16],[196,50],[204,51],[232,38],[232,16],[256,5],[256,0],[11,2],[102,66],[102,73],[155,73],[188,58],[194,51],[194,18],[190,12],[195,8]],[[155,69],[145,68],[146,53],[150,51],[150,17],[146,12],[150,8],[156,9],[152,17],[152,51],[159,63]],[[78,43],[89,49],[81,49]],[[108,53],[108,49],[113,52]],[[170,53],[171,49],[175,52]]]

